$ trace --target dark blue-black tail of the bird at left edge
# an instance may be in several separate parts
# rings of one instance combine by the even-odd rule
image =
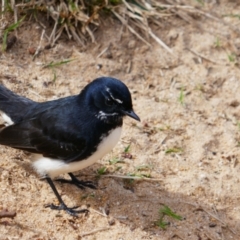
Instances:
[[[3,85],[0,85],[0,111],[4,112],[16,123],[21,121],[27,110],[36,102],[19,96]]]

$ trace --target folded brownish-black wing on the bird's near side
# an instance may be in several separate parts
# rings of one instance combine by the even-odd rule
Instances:
[[[45,157],[80,160],[86,150],[86,140],[78,125],[56,112],[54,109],[38,112],[30,119],[4,128],[0,132],[0,144]]]

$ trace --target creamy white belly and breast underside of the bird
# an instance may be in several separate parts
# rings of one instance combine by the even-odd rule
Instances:
[[[49,177],[56,177],[63,173],[79,171],[92,165],[98,159],[110,152],[117,144],[121,135],[121,131],[122,128],[118,127],[114,129],[107,137],[103,138],[96,152],[94,152],[93,155],[87,159],[65,163],[62,160],[46,158],[38,155],[38,158],[35,158],[36,160],[34,161],[33,166],[41,176],[48,174]]]

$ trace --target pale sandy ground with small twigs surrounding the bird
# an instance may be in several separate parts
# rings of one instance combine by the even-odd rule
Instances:
[[[216,2],[205,6],[212,16],[239,14],[238,1]],[[114,23],[99,29],[97,43],[87,48],[61,40],[33,61],[29,48],[37,47],[41,30],[31,23],[20,28],[17,43],[0,55],[4,85],[46,101],[77,94],[99,76],[117,77],[130,88],[142,121],[126,118],[114,150],[78,173],[97,190],[56,183],[69,206],[88,207],[78,218],[44,208],[57,200],[31,168],[31,156],[1,147],[0,208],[17,216],[0,219],[0,240],[240,239],[240,21],[182,17],[153,26],[173,55]],[[62,59],[74,61],[44,68]],[[102,167],[107,175],[151,178],[97,178]],[[165,230],[155,224],[164,205],[182,216],[164,217]]]

